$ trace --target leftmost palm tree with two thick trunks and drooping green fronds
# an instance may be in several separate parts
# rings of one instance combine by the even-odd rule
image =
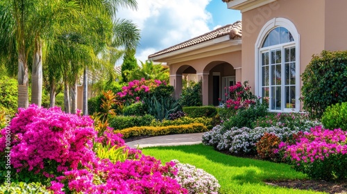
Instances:
[[[76,14],[76,1],[10,0],[0,3],[1,58],[18,65],[18,106],[28,107],[28,61],[33,60],[32,103],[41,105],[42,46],[53,21]],[[67,15],[66,13],[69,13]],[[29,55],[33,53],[33,55]],[[14,62],[17,58],[17,62]]]

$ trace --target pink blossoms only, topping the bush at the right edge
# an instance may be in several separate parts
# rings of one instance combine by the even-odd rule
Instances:
[[[300,165],[301,163],[313,163],[320,159],[323,161],[330,155],[346,155],[347,132],[336,130],[325,130],[321,126],[312,127],[311,132],[304,132],[298,137],[294,145],[280,143],[279,148],[285,150],[285,157]]]

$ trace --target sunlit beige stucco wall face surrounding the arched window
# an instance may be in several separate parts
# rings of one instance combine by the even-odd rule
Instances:
[[[243,12],[242,81],[248,80],[253,91],[255,89],[255,42],[264,24],[276,17],[289,19],[298,31],[300,74],[309,64],[312,55],[319,54],[325,49],[325,0],[278,0]]]

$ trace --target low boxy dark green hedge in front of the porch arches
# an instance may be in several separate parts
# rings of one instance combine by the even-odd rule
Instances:
[[[217,108],[212,106],[203,106],[203,107],[183,107],[183,112],[189,117],[209,117],[213,118],[217,116]]]

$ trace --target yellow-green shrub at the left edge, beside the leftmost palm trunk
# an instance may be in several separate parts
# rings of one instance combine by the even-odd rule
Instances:
[[[0,110],[14,115],[18,109],[18,82],[3,76],[0,80]]]

